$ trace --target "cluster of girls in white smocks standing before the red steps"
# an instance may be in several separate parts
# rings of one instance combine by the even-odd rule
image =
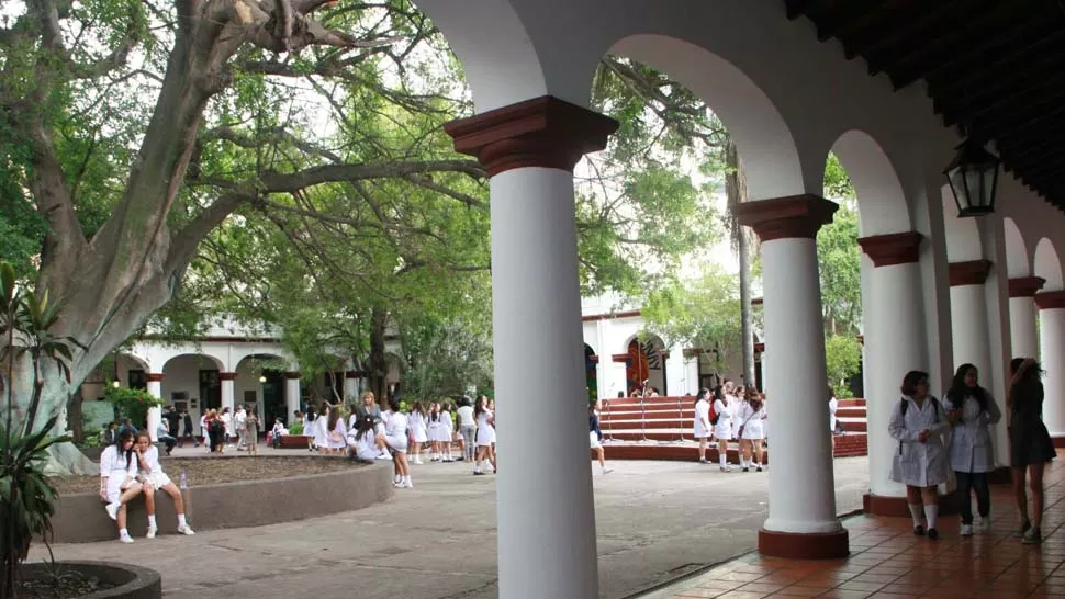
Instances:
[[[706,448],[717,440],[718,463],[721,472],[731,472],[728,463],[728,443],[740,442],[740,467],[743,472],[762,472],[764,443],[767,429],[765,396],[754,387],[736,386],[731,381],[714,387],[704,387],[695,397],[693,429],[699,442],[699,463],[708,463]]]

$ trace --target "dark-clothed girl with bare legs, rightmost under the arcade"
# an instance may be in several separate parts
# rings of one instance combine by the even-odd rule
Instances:
[[[1033,358],[1014,358],[1009,364],[1009,392],[1006,407],[1009,410],[1010,466],[1013,471],[1013,494],[1021,525],[1017,535],[1024,544],[1043,541],[1043,467],[1054,459],[1054,443],[1043,425],[1042,371]],[[1024,493],[1024,474],[1031,477],[1032,518],[1028,518],[1028,497]]]

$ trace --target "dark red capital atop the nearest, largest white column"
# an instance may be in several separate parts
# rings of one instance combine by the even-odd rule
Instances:
[[[496,176],[542,167],[573,171],[582,156],[606,147],[617,121],[595,111],[541,95],[444,125],[455,150],[474,156]]]

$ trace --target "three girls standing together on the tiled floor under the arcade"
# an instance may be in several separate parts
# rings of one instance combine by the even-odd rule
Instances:
[[[1014,358],[1006,396],[1010,467],[1020,524],[1016,535],[1025,544],[1042,542],[1043,470],[1054,459],[1051,437],[1043,425],[1042,371],[1034,359]],[[938,485],[953,470],[961,499],[961,535],[973,534],[972,495],[976,494],[978,530],[990,529],[990,489],[987,473],[994,470],[991,426],[1002,412],[995,398],[979,386],[979,372],[962,364],[942,402],[929,394],[928,373],[910,371],[903,377],[901,400],[895,406],[888,431],[898,441],[892,464],[893,481],[906,485],[913,518],[913,533],[939,539]],[[1029,478],[1030,477],[1030,478]],[[1032,493],[1028,511],[1025,478]]]

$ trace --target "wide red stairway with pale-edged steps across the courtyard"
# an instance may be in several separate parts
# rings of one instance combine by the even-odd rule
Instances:
[[[608,459],[614,460],[696,460],[698,443],[693,438],[695,418],[693,397],[634,397],[604,400],[599,414],[599,429]],[[827,408],[826,408],[827,411]],[[836,436],[836,457],[866,455],[865,399],[841,399],[837,417],[843,423],[843,434]],[[770,408],[770,438],[773,443],[773,412]],[[828,415],[825,417],[828,428]],[[827,432],[827,431],[826,431]],[[736,463],[738,443],[729,444],[729,461]],[[766,451],[769,453],[769,451]],[[716,448],[707,452],[708,460],[717,459]],[[769,459],[766,457],[766,462]]]

